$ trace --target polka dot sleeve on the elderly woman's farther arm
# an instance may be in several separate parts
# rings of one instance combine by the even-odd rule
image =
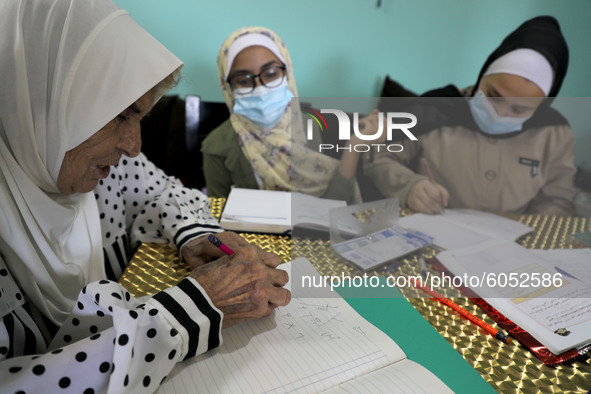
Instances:
[[[223,231],[211,215],[207,196],[167,176],[143,154],[123,157],[109,181],[118,182],[112,193],[121,190],[132,246],[166,242],[180,250],[194,238]],[[112,204],[100,208],[108,216]]]

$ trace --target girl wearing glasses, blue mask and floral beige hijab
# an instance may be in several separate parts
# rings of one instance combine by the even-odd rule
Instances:
[[[339,161],[312,148],[319,133],[306,140],[301,109],[291,105],[297,96],[291,60],[277,34],[263,27],[235,31],[220,49],[218,71],[230,118],[203,142],[210,197],[227,197],[234,185],[361,200],[359,153],[345,151]]]

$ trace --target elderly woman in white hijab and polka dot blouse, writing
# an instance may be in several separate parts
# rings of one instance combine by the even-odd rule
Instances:
[[[289,302],[276,255],[222,232],[203,194],[140,154],[174,55],[110,0],[5,1],[0,26],[1,391],[153,392],[222,327]],[[190,276],[131,297],[107,280],[127,233],[178,247]]]

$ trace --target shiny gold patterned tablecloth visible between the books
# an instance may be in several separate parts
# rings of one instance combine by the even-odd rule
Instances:
[[[211,199],[211,209],[215,217],[220,217],[224,202],[224,199]],[[519,241],[528,248],[569,248],[569,234],[591,230],[591,218],[523,215],[518,219],[535,229]],[[264,250],[279,254],[284,262],[305,256],[322,275],[359,273],[340,259],[326,241],[298,238],[292,242],[292,239],[286,236],[247,233],[241,235]],[[399,263],[399,266],[383,266],[368,272],[368,275],[419,273],[416,255],[400,259]],[[188,273],[187,267],[179,263],[176,251],[166,245],[144,244],[133,257],[119,282],[135,296],[141,296],[175,285]],[[586,393],[591,389],[589,356],[581,356],[558,367],[548,367],[518,341],[505,344],[490,335],[485,335],[476,326],[467,323],[464,318],[439,302],[418,297],[409,297],[408,300],[497,391]],[[495,324],[469,299],[454,297],[453,301],[489,324]]]

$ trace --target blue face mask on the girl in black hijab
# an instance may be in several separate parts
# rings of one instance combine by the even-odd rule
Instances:
[[[499,116],[482,90],[478,90],[470,99],[470,111],[480,129],[491,135],[521,131],[523,123],[531,118],[531,115],[523,118]]]

